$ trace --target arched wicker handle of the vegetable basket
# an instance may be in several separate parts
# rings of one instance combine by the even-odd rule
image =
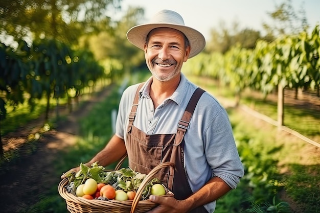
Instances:
[[[131,205],[131,211],[130,213],[134,213],[135,212],[135,208],[138,205],[141,195],[144,191],[144,188],[146,187],[147,183],[151,180],[152,177],[154,177],[156,175],[156,173],[161,170],[162,168],[165,167],[172,167],[174,168],[174,163],[173,162],[164,162],[164,163],[160,163],[158,164],[155,168],[153,168],[149,174],[143,179],[143,181],[141,182],[141,185],[139,186],[138,190],[136,191],[136,195],[133,199],[132,205]]]

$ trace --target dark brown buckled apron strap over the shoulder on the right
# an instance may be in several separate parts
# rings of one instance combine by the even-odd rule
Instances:
[[[189,103],[187,105],[187,108],[185,110],[185,113],[182,115],[181,120],[178,122],[177,127],[177,134],[175,136],[175,146],[178,146],[181,144],[182,139],[184,139],[184,136],[186,134],[187,129],[190,125],[190,120],[192,117],[192,114],[197,106],[197,103],[202,96],[204,90],[198,87],[192,94],[191,99],[189,100]]]

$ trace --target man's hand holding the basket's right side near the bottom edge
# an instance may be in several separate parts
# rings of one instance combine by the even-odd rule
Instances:
[[[177,200],[171,196],[150,195],[150,200],[159,205],[147,213],[185,213],[191,210],[190,205],[186,201]]]

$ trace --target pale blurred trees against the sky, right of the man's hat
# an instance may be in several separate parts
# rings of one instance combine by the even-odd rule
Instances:
[[[309,28],[303,4],[299,11],[295,11],[291,0],[285,0],[280,5],[276,5],[275,11],[269,12],[268,15],[272,22],[262,23],[265,34],[254,29],[240,29],[237,21],[234,21],[230,27],[224,21],[220,21],[219,26],[211,30],[211,39],[208,41],[205,52],[224,54],[236,45],[254,49],[259,39],[270,42],[279,36],[297,35]]]

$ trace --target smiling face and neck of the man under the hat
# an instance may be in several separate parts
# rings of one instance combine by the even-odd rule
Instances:
[[[190,54],[185,40],[184,34],[172,28],[156,28],[147,36],[144,51],[153,76],[150,97],[154,108],[169,98],[180,82],[182,64]]]

